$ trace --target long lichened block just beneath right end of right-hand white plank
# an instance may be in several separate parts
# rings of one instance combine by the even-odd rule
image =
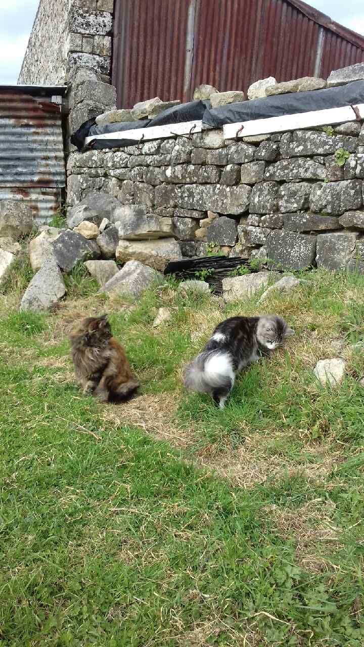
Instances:
[[[280,139],[280,153],[285,158],[302,155],[334,155],[338,148],[345,148],[349,153],[354,153],[357,146],[356,137],[326,135],[313,130],[284,133]]]

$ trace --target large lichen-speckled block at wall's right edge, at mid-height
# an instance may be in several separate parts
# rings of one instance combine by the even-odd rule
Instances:
[[[310,195],[310,209],[332,215],[360,209],[363,205],[361,184],[360,180],[315,184]]]

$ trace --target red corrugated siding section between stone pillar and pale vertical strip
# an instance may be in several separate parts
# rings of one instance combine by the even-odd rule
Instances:
[[[161,96],[186,98],[187,0],[116,0],[113,85],[119,106]],[[189,96],[189,83],[188,83]]]

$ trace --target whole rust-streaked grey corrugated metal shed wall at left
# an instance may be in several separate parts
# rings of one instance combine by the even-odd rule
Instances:
[[[0,199],[22,199],[44,220],[65,187],[60,106],[0,88]]]

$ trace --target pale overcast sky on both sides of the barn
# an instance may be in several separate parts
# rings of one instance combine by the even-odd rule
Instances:
[[[0,0],[0,84],[17,82],[38,4],[39,0]],[[312,0],[308,4],[364,35],[364,0]]]

